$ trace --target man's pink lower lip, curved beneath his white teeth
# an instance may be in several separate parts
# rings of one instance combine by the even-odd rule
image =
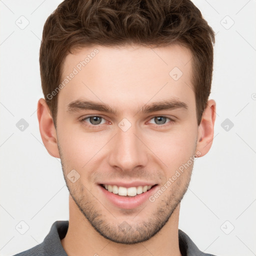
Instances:
[[[146,200],[148,200],[149,196],[155,192],[158,185],[155,185],[151,189],[147,190],[144,193],[137,194],[135,196],[122,196],[118,194],[114,194],[112,192],[109,192],[101,185],[98,185],[100,190],[103,192],[105,197],[115,206],[123,209],[132,209],[135,207],[138,207],[142,203],[144,203]]]

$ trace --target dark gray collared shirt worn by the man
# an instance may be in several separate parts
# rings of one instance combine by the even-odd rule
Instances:
[[[60,240],[66,235],[68,223],[68,220],[55,221],[40,244],[13,256],[67,256]],[[182,256],[214,256],[201,252],[189,236],[180,229],[178,229],[178,242]]]

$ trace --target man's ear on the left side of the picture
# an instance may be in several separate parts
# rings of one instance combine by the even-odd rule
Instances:
[[[53,124],[49,107],[44,98],[37,103],[37,118],[42,142],[51,156],[60,158],[57,147],[57,133]]]

